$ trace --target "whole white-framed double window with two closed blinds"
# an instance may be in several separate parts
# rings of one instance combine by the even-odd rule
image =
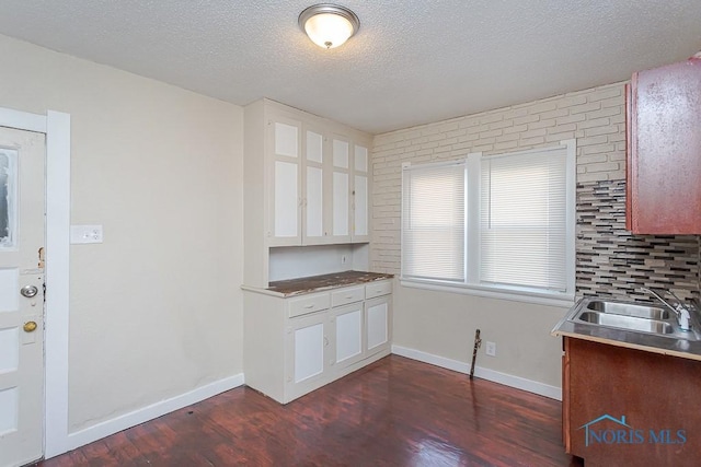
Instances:
[[[402,279],[573,296],[575,153],[568,140],[405,165]]]

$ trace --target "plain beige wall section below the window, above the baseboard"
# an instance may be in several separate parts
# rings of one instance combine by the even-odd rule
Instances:
[[[561,386],[562,343],[549,332],[566,308],[421,290],[398,282],[393,295],[394,346],[428,357],[420,360],[447,359],[452,361],[448,367],[467,371],[474,331],[480,329],[479,369],[535,382],[535,386],[542,386],[536,388],[540,394],[551,395],[548,386]],[[496,357],[484,353],[486,341],[496,343]]]

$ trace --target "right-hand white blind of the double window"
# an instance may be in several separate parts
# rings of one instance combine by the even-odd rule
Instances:
[[[482,160],[482,283],[565,291],[566,162],[566,149]]]

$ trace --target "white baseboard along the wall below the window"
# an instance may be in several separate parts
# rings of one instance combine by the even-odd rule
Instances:
[[[421,350],[409,349],[401,346],[392,346],[392,353],[401,357],[406,357],[407,359],[418,360],[420,362],[430,363],[432,365],[452,370],[459,373],[470,373],[470,365],[464,362],[422,352]],[[558,386],[551,386],[549,384],[539,383],[532,380],[526,380],[525,377],[514,376],[490,369],[483,369],[481,366],[474,367],[474,375],[479,378],[499,383],[506,386],[514,387],[516,389],[528,390],[529,393],[550,397],[551,399],[562,400],[562,389]]]

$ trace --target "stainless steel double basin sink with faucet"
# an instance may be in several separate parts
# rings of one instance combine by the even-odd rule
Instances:
[[[676,313],[655,305],[584,299],[575,306],[567,319],[573,323],[624,329],[673,339],[701,340],[696,316],[692,316],[691,329],[683,330],[679,327]]]

